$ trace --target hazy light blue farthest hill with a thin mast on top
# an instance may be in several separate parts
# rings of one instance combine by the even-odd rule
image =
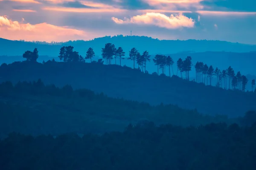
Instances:
[[[226,41],[211,40],[158,40],[151,37],[125,36],[100,37],[90,41],[69,41],[61,43],[44,42],[23,42],[0,39],[0,56],[20,55],[23,51],[38,48],[40,55],[49,55],[57,57],[61,46],[74,46],[75,51],[85,55],[89,47],[92,47],[96,56],[101,55],[101,48],[106,43],[115,44],[116,47],[122,47],[124,51],[129,51],[136,47],[139,51],[148,50],[150,54],[174,54],[184,51],[204,52],[204,51],[232,51],[232,52],[250,52],[256,51],[256,45],[246,45],[231,43]],[[15,50],[13,50],[15,48]]]

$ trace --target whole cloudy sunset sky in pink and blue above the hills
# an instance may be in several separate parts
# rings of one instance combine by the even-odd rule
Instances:
[[[0,38],[122,35],[256,44],[256,0],[0,0]]]

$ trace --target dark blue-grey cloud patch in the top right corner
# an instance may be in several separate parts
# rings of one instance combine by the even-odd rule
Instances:
[[[201,4],[212,10],[223,11],[256,11],[256,0],[204,0]]]

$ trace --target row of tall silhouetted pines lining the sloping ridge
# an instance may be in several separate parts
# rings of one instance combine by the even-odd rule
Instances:
[[[73,51],[73,48],[73,46],[63,46],[60,49],[60,53],[58,56],[60,60],[63,60],[64,62],[85,62],[86,59],[90,59],[90,62],[95,62],[93,61],[93,57],[95,56],[93,48],[88,48],[85,57],[79,55],[77,51]],[[114,44],[107,43],[105,44],[105,47],[102,48],[102,59],[99,59],[97,62],[103,63],[104,59],[106,65],[110,65],[112,64],[112,60],[114,59],[115,64],[117,61],[119,62],[119,65],[121,65],[122,59],[125,59],[124,56],[125,52],[123,51],[122,47],[116,48]],[[29,61],[36,61],[36,59],[38,58],[37,48],[35,48],[33,52],[26,51],[23,54],[23,57]],[[135,68],[136,63],[138,65],[138,68],[136,69],[148,73],[148,71],[146,71],[146,65],[147,62],[151,61],[150,57],[151,55],[148,54],[148,51],[144,51],[142,54],[140,54],[140,52],[136,48],[132,48],[131,51],[129,51],[129,57],[127,59],[133,61],[133,68]],[[153,62],[155,65],[157,65],[157,73],[154,72],[153,74],[159,75],[160,69],[162,71],[161,74],[166,75],[167,68],[169,77],[171,77],[172,75],[178,76],[178,72],[180,72],[181,78],[183,78],[184,76],[184,79],[190,80],[189,73],[190,71],[192,71],[193,66],[192,57],[190,56],[186,57],[186,59],[184,60],[181,58],[177,60],[176,74],[175,71],[173,70],[173,65],[175,64],[175,62],[171,56],[157,54],[153,58]],[[212,78],[215,77],[217,79],[216,86],[219,88],[245,91],[245,87],[248,83],[248,79],[246,78],[246,76],[242,75],[240,71],[238,71],[237,74],[235,74],[235,71],[231,66],[221,71],[218,67],[213,68],[212,65],[208,66],[203,62],[196,62],[195,72],[196,80],[193,79],[193,81],[196,81],[198,83],[204,83],[205,85],[212,85]],[[250,83],[252,91],[254,91],[255,79],[253,79]],[[232,88],[230,88],[230,85]]]

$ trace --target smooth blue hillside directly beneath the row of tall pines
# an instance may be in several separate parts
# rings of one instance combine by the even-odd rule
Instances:
[[[227,91],[221,88],[189,82],[178,77],[144,74],[137,69],[118,65],[94,63],[15,62],[0,67],[0,81],[42,79],[56,86],[72,85],[87,88],[111,97],[148,102],[152,105],[178,105],[197,109],[210,115],[243,116],[248,110],[256,110],[253,92]]]

